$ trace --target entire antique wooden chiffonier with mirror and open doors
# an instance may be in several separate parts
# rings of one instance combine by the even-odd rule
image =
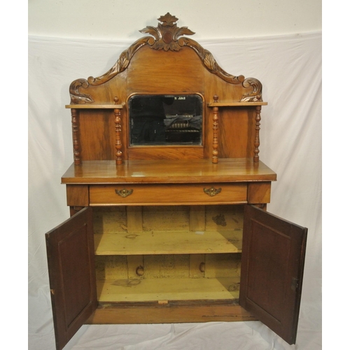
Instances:
[[[307,229],[266,211],[262,85],[159,20],[71,83],[71,218],[46,234],[57,349],[83,323],[256,319],[293,344]]]

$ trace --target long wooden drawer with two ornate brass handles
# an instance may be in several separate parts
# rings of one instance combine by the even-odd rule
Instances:
[[[246,183],[90,186],[90,205],[243,204]]]

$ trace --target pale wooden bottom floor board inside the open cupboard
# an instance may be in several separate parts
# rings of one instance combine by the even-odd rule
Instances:
[[[97,281],[97,297],[99,302],[233,300],[239,297],[239,277]]]

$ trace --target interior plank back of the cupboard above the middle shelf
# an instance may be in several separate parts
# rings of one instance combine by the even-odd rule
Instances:
[[[243,215],[244,206],[230,204],[94,207],[94,233],[241,230]]]

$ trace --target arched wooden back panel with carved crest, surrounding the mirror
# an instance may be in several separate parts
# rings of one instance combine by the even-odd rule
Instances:
[[[213,151],[214,95],[221,104],[218,120],[218,157],[253,158],[255,106],[262,102],[262,85],[255,78],[232,76],[221,69],[208,50],[185,35],[172,15],[159,18],[158,27],[141,30],[144,36],[123,51],[104,75],[74,80],[71,104],[78,106],[78,142],[81,160],[116,159],[116,116],[120,110],[120,141],[124,160],[211,158]],[[128,99],[134,94],[200,94],[203,97],[202,145],[130,146]],[[84,105],[81,109],[79,106]],[[87,106],[109,106],[86,109]],[[86,106],[86,107],[85,107]],[[71,106],[70,108],[73,108]]]

